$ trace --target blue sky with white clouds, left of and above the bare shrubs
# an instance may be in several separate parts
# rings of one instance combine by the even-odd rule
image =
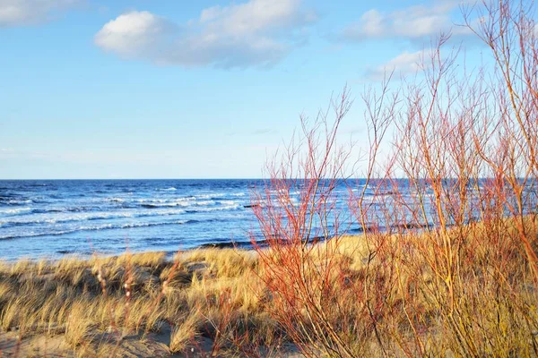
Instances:
[[[412,75],[441,31],[478,63],[462,23],[453,0],[0,0],[0,179],[261,177],[299,115]]]

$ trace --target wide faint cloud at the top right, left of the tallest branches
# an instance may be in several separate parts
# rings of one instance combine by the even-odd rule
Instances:
[[[448,0],[430,6],[411,6],[392,13],[372,9],[346,27],[342,36],[347,40],[360,41],[368,38],[425,38],[447,31],[465,35],[470,31],[455,26],[452,20],[457,5],[456,1]]]

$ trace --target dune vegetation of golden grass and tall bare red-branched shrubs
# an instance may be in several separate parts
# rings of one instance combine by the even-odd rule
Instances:
[[[252,193],[253,250],[2,264],[2,354],[538,356],[533,9],[466,10],[491,64],[441,35],[416,81],[360,96],[365,143],[337,135],[347,89],[302,118]]]

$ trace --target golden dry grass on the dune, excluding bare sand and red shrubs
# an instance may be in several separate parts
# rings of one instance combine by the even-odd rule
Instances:
[[[501,239],[508,242],[516,233],[501,224]],[[327,258],[332,260],[334,269],[325,279],[333,295],[324,296],[315,286],[310,292],[332,300],[338,310],[326,310],[333,315],[327,320],[342,328],[363,324],[357,319],[371,307],[360,294],[378,286],[382,310],[375,314],[381,337],[338,332],[349,338],[351,354],[533,354],[537,290],[516,245],[507,244],[505,250],[492,233],[499,234],[491,224],[475,224],[464,233],[458,260],[466,261],[454,284],[456,311],[447,311],[442,277],[429,263],[436,255],[429,240],[437,239],[424,233],[343,236],[318,243],[309,251],[313,264],[305,266],[304,276],[315,284]],[[507,257],[499,256],[501,249]],[[274,262],[289,263],[285,257]],[[82,356],[104,347],[121,352],[127,341],[138,342],[141,350],[160,341],[170,353],[210,349],[220,355],[280,355],[277,347],[293,337],[274,315],[282,301],[262,279],[273,269],[263,263],[254,251],[231,249],[181,252],[173,261],[163,252],[145,252],[2,263],[0,327],[22,341],[36,335],[63,337],[71,354]],[[202,348],[201,340],[211,341],[211,348]],[[479,343],[480,349],[471,346]]]

